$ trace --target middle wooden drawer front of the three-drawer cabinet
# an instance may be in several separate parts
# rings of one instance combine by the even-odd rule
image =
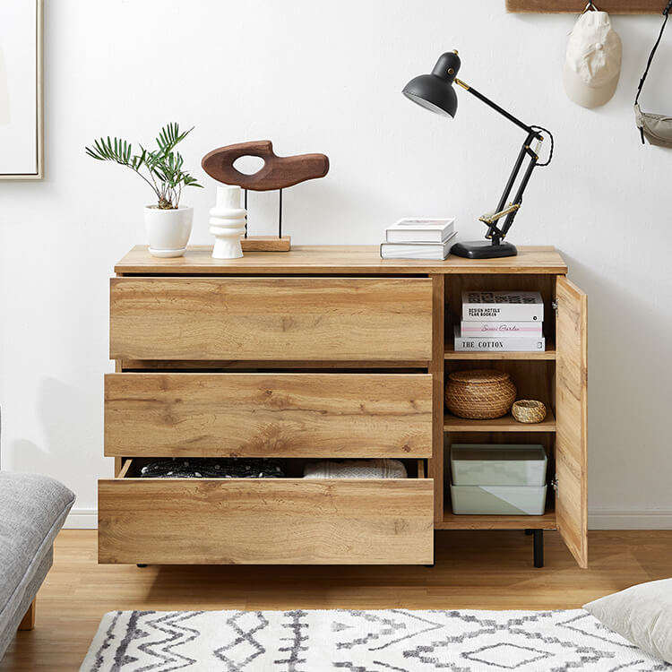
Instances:
[[[105,454],[431,457],[432,376],[108,374]]]

